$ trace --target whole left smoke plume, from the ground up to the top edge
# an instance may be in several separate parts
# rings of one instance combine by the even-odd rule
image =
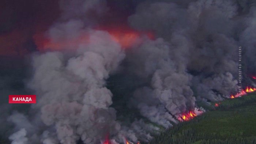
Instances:
[[[63,18],[66,19],[49,29],[50,40],[59,42],[81,35],[87,35],[88,38],[63,48],[73,49],[76,53],[34,54],[34,73],[28,87],[37,95],[38,103],[33,105],[33,109],[40,111],[39,117],[46,126],[35,129],[34,135],[32,132],[27,133],[37,125],[29,122],[24,115],[14,113],[9,117],[10,121],[16,124],[24,119],[24,122],[23,127],[16,124],[16,127],[23,129],[9,137],[13,144],[75,144],[79,139],[93,144],[105,139],[106,134],[112,136],[120,130],[120,124],[115,121],[116,111],[109,107],[113,95],[105,87],[105,80],[117,70],[125,57],[124,51],[108,33],[84,29],[83,20],[76,17],[71,19],[74,15],[84,16],[96,7],[100,13],[98,5],[102,5],[101,10],[104,11],[105,4],[100,1],[65,0],[60,1],[60,5],[64,11]]]

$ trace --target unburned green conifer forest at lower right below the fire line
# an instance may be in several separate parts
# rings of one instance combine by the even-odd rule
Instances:
[[[149,144],[256,144],[255,92],[215,103],[204,114],[155,136]]]

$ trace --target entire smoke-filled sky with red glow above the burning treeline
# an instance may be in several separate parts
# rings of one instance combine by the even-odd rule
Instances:
[[[148,143],[182,115],[255,87],[253,0],[0,7],[0,143]],[[11,94],[37,95],[37,103],[8,104]]]

